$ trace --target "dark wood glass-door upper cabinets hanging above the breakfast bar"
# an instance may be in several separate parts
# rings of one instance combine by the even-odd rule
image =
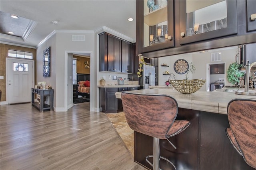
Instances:
[[[166,2],[167,8],[160,8],[159,0],[136,1],[137,55],[154,58],[256,42],[256,0]]]

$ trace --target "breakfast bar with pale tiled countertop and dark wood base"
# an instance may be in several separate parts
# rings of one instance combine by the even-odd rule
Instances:
[[[234,149],[226,135],[230,127],[227,106],[235,98],[253,98],[256,96],[236,95],[230,92],[197,91],[182,94],[174,89],[143,89],[129,91],[135,94],[163,94],[176,99],[179,105],[176,120],[190,121],[184,132],[170,138],[177,147],[175,150],[167,140],[160,140],[160,155],[173,162],[178,170],[253,170],[242,156]],[[117,92],[116,98],[121,99]],[[146,105],[146,103],[139,103]],[[134,132],[134,161],[152,169],[145,157],[153,152],[153,138]],[[172,170],[166,161],[161,161],[161,168]]]

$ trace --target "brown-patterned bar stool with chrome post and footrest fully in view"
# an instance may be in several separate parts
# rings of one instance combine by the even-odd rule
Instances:
[[[160,156],[159,139],[179,134],[190,125],[189,121],[175,120],[178,114],[177,101],[168,95],[138,95],[129,92],[122,92],[121,99],[130,128],[154,138],[153,155],[146,156],[153,170],[160,169],[160,158],[174,166],[170,160]],[[150,157],[153,157],[153,164],[148,161]]]

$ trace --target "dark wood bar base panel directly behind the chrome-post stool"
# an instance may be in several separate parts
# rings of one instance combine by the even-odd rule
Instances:
[[[160,140],[160,155],[174,163],[178,170],[196,170],[199,161],[199,111],[179,108],[176,120],[187,120],[191,124],[180,134],[169,138],[177,149],[174,149],[167,140]],[[153,154],[153,137],[135,132],[134,148],[134,161],[152,169],[152,166],[146,162],[145,157]],[[172,165],[165,160],[161,160],[160,164],[161,169],[173,169]]]

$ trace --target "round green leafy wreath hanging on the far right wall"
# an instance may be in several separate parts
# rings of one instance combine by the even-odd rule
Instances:
[[[228,75],[228,81],[236,85],[239,83],[239,78],[244,76],[243,72],[240,72],[240,68],[242,67],[242,64],[238,64],[237,62],[234,62],[229,65],[227,75]]]

